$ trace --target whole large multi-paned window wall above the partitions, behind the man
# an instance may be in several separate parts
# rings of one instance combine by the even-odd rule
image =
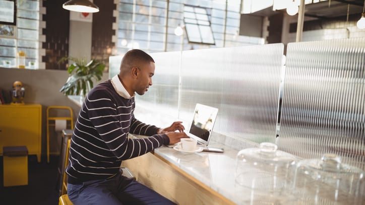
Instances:
[[[263,38],[238,35],[240,5],[241,0],[119,0],[116,53],[263,44]],[[186,34],[176,36],[182,24]]]

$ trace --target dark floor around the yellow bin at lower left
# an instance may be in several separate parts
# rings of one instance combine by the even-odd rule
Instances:
[[[3,157],[0,157],[0,204],[2,205],[57,205],[58,156],[50,156],[49,163],[42,156],[40,163],[35,155],[28,156],[28,185],[3,185]]]

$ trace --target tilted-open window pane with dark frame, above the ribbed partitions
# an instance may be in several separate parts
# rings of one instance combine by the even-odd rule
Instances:
[[[215,44],[209,17],[205,8],[185,5],[184,23],[189,42]]]

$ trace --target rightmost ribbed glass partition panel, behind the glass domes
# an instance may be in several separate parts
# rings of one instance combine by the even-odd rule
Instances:
[[[364,169],[365,38],[289,43],[279,148]]]

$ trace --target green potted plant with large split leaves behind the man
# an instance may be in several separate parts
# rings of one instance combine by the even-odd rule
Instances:
[[[98,60],[86,61],[85,58],[62,57],[58,63],[66,60],[71,60],[74,63],[70,64],[67,69],[70,77],[67,79],[65,85],[59,92],[65,95],[83,95],[94,87],[93,81],[100,81],[103,76],[105,64]]]

